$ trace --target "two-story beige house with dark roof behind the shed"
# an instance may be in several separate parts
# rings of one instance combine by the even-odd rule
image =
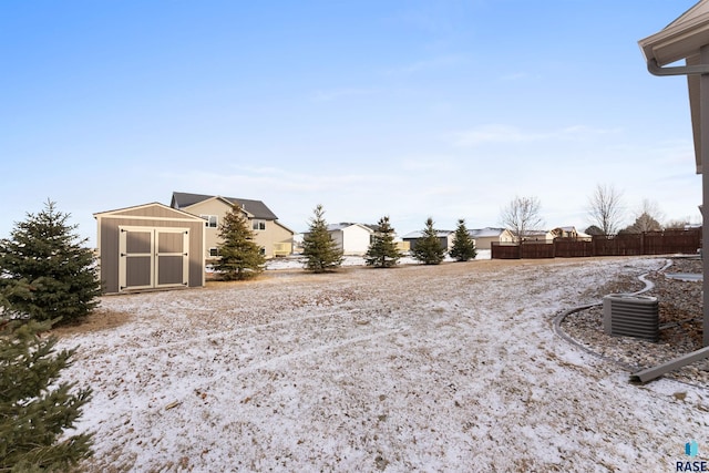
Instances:
[[[292,253],[294,232],[278,223],[278,217],[261,200],[174,192],[169,206],[202,217],[205,223],[205,259],[218,257],[219,225],[224,216],[238,206],[254,230],[254,241],[264,256],[288,256]]]

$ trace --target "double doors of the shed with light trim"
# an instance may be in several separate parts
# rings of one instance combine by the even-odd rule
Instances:
[[[187,286],[187,228],[119,227],[119,292]]]

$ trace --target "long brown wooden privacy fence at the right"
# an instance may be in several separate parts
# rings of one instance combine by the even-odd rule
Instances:
[[[579,258],[584,256],[696,255],[701,247],[701,228],[594,236],[590,241],[556,238],[554,241],[492,244],[493,259]]]

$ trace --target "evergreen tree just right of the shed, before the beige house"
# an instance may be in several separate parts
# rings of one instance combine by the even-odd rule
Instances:
[[[243,280],[264,271],[266,257],[254,241],[254,232],[238,206],[224,216],[219,226],[219,260],[214,268],[226,280]]]

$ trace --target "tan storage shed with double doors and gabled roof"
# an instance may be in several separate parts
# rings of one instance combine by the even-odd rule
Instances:
[[[204,286],[203,218],[158,203],[93,216],[105,294]]]

